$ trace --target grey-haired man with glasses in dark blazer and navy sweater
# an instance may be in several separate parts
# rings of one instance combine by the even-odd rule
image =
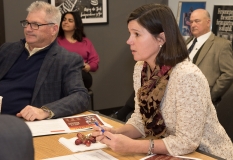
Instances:
[[[2,114],[33,121],[86,111],[90,97],[82,81],[82,57],[56,41],[59,9],[35,1],[27,11],[21,21],[25,39],[0,47]]]

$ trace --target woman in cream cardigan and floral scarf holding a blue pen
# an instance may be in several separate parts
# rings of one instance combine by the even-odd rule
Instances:
[[[218,121],[208,82],[188,58],[171,9],[146,4],[128,18],[135,110],[120,128],[93,126],[93,136],[115,152],[170,154],[196,149],[226,158],[233,144]],[[136,138],[151,136],[150,140]]]

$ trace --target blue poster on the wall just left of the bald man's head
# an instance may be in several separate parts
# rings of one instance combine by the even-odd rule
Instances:
[[[190,33],[190,23],[189,23],[189,18],[195,9],[205,9],[206,8],[206,2],[183,2],[180,1],[178,4],[178,12],[177,12],[177,23],[179,25],[180,32],[182,36],[187,39],[191,33]]]

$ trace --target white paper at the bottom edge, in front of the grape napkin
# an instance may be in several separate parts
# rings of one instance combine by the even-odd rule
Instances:
[[[44,160],[118,160],[102,150],[94,150],[82,153],[76,153],[67,156],[48,158]]]

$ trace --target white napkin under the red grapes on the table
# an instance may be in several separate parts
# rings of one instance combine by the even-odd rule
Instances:
[[[101,148],[107,148],[108,146],[106,144],[96,142],[91,143],[89,147],[87,147],[85,144],[75,144],[75,140],[77,137],[73,137],[70,139],[66,139],[64,137],[59,138],[59,142],[63,144],[66,148],[71,150],[72,152],[81,152],[81,151],[88,151],[88,150],[95,150],[95,149],[101,149]]]

